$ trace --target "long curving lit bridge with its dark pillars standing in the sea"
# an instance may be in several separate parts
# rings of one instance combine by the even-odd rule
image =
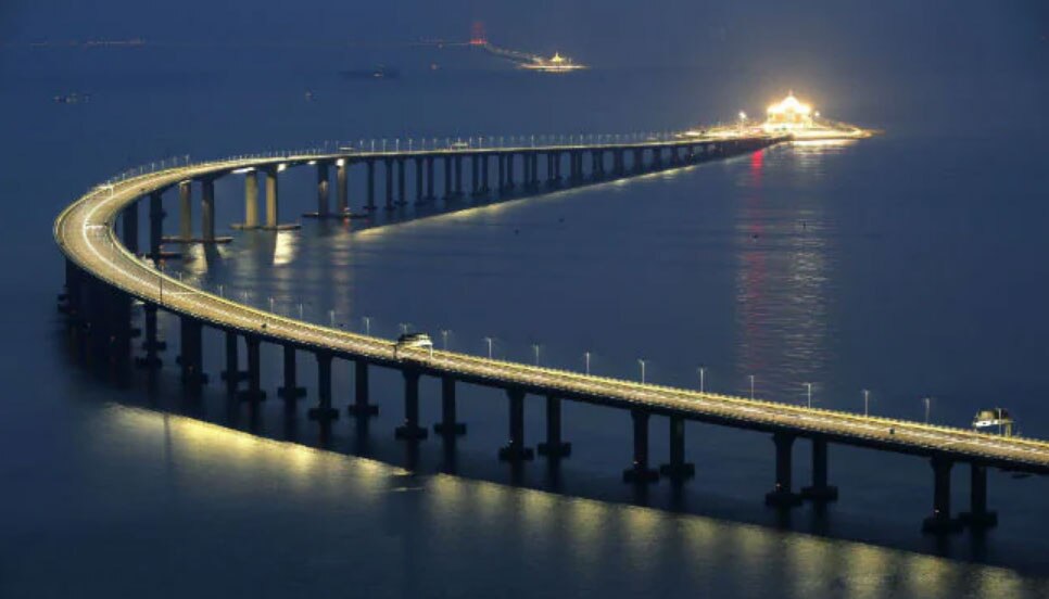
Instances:
[[[66,207],[54,224],[54,239],[66,257],[66,290],[60,308],[68,315],[71,330],[81,341],[86,354],[108,367],[125,369],[131,364],[161,367],[163,341],[157,339],[157,310],[179,319],[181,380],[189,395],[198,396],[208,383],[202,360],[205,327],[224,332],[226,340],[225,385],[230,394],[245,400],[265,397],[260,383],[260,345],[276,344],[283,349],[283,385],[278,390],[289,405],[305,393],[299,385],[296,353],[312,354],[317,360],[316,405],[312,419],[331,425],[340,411],[332,404],[331,367],[336,359],[354,364],[354,397],[347,412],[369,418],[378,406],[369,403],[370,368],[395,369],[404,377],[404,421],[395,434],[409,442],[428,436],[419,422],[419,380],[434,377],[441,384],[441,421],[437,434],[465,434],[457,420],[456,385],[473,384],[505,392],[508,403],[508,442],[498,457],[511,462],[534,459],[524,444],[523,411],[529,395],[543,397],[546,410],[545,442],[536,447],[547,459],[564,459],[571,444],[563,436],[561,403],[582,402],[628,412],[632,422],[633,461],[623,479],[646,484],[660,476],[680,483],[694,475],[685,461],[684,423],[687,420],[767,433],[773,441],[775,477],[766,496],[767,504],[786,509],[804,500],[816,502],[837,499],[830,484],[827,454],[831,444],[867,447],[909,454],[930,460],[933,471],[932,511],[923,528],[934,533],[994,526],[997,514],[987,506],[987,471],[1001,469],[1032,474],[1049,473],[1049,443],[1016,437],[1000,437],[974,431],[927,423],[868,417],[845,411],[807,408],[746,397],[697,392],[595,377],[580,372],[541,368],[479,356],[418,347],[396,347],[392,340],[327,328],[265,311],[193,288],[159,269],[164,257],[162,234],[165,212],[163,194],[177,190],[180,203],[180,243],[218,243],[215,235],[214,181],[243,175],[244,228],[279,229],[279,177],[292,167],[313,167],[317,174],[317,211],[321,218],[351,218],[380,209],[399,211],[408,203],[406,166],[415,169],[415,200],[426,204],[434,196],[434,164],[444,177],[444,199],[463,197],[464,164],[470,170],[472,202],[544,193],[552,189],[584,186],[618,178],[645,175],[668,168],[686,167],[759,151],[781,143],[784,138],[742,133],[735,138],[690,137],[685,139],[602,140],[597,143],[569,143],[541,146],[473,146],[450,144],[445,148],[395,151],[344,149],[336,152],[311,151],[279,156],[239,156],[199,164],[164,165],[90,190]],[[585,158],[590,158],[589,161]],[[489,165],[494,163],[497,179],[492,187]],[[540,165],[544,164],[544,168]],[[589,163],[589,164],[587,164]],[[515,165],[522,176],[515,179]],[[561,167],[567,165],[567,177]],[[363,168],[366,177],[364,205],[353,212],[349,205],[347,178],[351,167]],[[383,168],[384,203],[376,203],[376,173]],[[336,170],[337,206],[330,209],[330,170]],[[265,176],[265,219],[260,219],[258,174]],[[192,186],[200,188],[201,235],[191,228]],[[148,246],[139,248],[139,204],[149,204]],[[118,230],[119,227],[119,230]],[[170,241],[170,240],[169,240]],[[144,356],[132,359],[131,340],[139,332],[132,326],[131,303],[143,305]],[[240,369],[239,352],[247,353],[247,370]],[[670,428],[670,460],[658,469],[648,459],[648,429],[653,417],[663,418]],[[797,439],[812,444],[812,480],[796,489],[793,481],[792,449]],[[971,472],[970,506],[955,515],[950,505],[950,471],[968,464]]]

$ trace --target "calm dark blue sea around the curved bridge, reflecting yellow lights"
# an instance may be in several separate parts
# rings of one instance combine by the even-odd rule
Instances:
[[[320,67],[262,77],[176,65],[173,77],[149,77],[134,64],[124,79],[119,68],[86,75],[104,71],[97,65],[14,68],[4,52],[15,75],[0,90],[0,114],[17,140],[0,146],[0,196],[16,207],[3,225],[0,288],[4,596],[1049,592],[1040,479],[993,472],[999,527],[937,541],[918,532],[932,473],[917,458],[832,446],[841,500],[825,514],[806,506],[783,520],[762,506],[773,448],[756,433],[690,423],[696,479],[677,493],[660,482],[637,494],[619,481],[631,437],[629,418],[614,410],[567,404],[571,458],[559,471],[536,460],[515,474],[495,459],[506,403],[490,390],[459,388],[469,433],[453,455],[433,437],[413,455],[392,433],[400,375],[375,371],[379,417],[362,432],[343,413],[318,448],[304,417],[316,397],[308,356],[300,378],[309,394],[295,419],[273,398],[273,347],[263,349],[271,398],[257,412],[227,403],[217,384],[200,405],[184,403],[172,319],[162,320],[172,347],[153,392],[142,381],[116,388],[69,358],[54,310],[62,260],[51,222],[126,166],[325,139],[685,127],[741,107],[758,113],[771,99],[762,94],[785,91],[758,69],[541,78],[442,56],[447,68],[438,72],[405,59],[392,81],[349,82]],[[438,343],[447,330],[462,352],[483,354],[492,336],[498,357],[532,361],[538,344],[543,365],[574,370],[591,352],[595,373],[625,379],[639,377],[642,358],[648,380],[686,387],[698,386],[703,366],[710,390],[746,395],[753,374],[758,396],[802,404],[812,383],[816,405],[858,412],[869,388],[872,412],[908,419],[924,418],[920,399],[931,395],[932,420],[959,426],[1001,405],[1025,434],[1049,437],[1040,142],[1049,131],[1037,111],[1049,89],[1016,65],[993,74],[998,85],[913,71],[901,68],[892,86],[883,69],[851,90],[820,82],[821,110],[885,129],[872,140],[776,146],[446,214],[408,209],[376,226],[304,220],[301,231],[230,232],[228,246],[194,248],[173,267],[266,309],[298,316],[301,305],[316,322],[333,310],[337,326],[362,330],[368,317],[374,333],[394,336],[406,323]],[[91,101],[51,101],[72,90]],[[977,112],[993,125],[973,125]],[[351,171],[356,206],[362,175]],[[285,220],[314,209],[313,186],[308,168],[282,174]],[[220,229],[242,219],[242,194],[239,178],[218,181]],[[174,232],[174,195],[165,202]],[[220,337],[205,343],[217,380]],[[339,407],[351,400],[350,370],[336,367]],[[438,397],[424,381],[428,425]],[[529,398],[530,446],[542,426],[542,402]],[[665,461],[665,420],[653,419],[650,443],[653,461]],[[797,484],[808,482],[808,451],[796,445]],[[966,469],[955,470],[953,492],[955,509],[965,509]]]

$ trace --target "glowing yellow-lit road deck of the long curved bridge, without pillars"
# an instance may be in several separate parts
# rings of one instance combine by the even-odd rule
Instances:
[[[591,148],[593,146],[561,146],[546,150]],[[522,148],[519,151],[535,150],[544,149]],[[509,151],[500,149],[494,152]],[[476,150],[463,153],[471,152]],[[417,152],[434,153],[437,152]],[[402,152],[396,155],[412,154],[415,153]],[[61,213],[54,224],[54,238],[62,252],[74,264],[142,302],[216,328],[249,333],[263,341],[291,344],[306,351],[330,352],[349,359],[363,357],[379,366],[417,369],[425,374],[452,375],[464,382],[485,386],[521,388],[529,393],[625,409],[643,408],[652,413],[682,416],[691,420],[735,428],[822,436],[834,443],[903,454],[945,455],[952,459],[980,462],[1004,470],[1049,473],[1049,443],[1036,439],[999,437],[965,429],[641,384],[454,352],[402,348],[397,355],[391,340],[294,320],[182,283],[156,270],[150,260],[131,254],[115,231],[115,221],[123,208],[152,191],[166,189],[187,179],[205,175],[220,176],[247,167],[281,163],[293,166],[309,161],[354,160],[359,156],[362,154],[303,154],[280,158],[217,161],[144,174],[113,186],[99,186]]]

